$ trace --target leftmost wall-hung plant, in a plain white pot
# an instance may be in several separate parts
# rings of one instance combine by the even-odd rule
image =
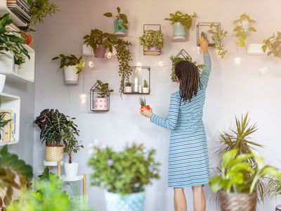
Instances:
[[[65,72],[65,84],[78,84],[78,75],[85,68],[85,61],[80,56],[77,58],[74,55],[65,56],[60,54],[52,60],[60,59],[60,68]]]

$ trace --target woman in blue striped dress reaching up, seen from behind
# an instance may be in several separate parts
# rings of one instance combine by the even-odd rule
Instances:
[[[176,211],[186,211],[185,187],[192,187],[195,211],[206,210],[202,186],[208,183],[209,158],[207,139],[202,122],[207,83],[211,72],[208,42],[201,39],[204,70],[200,76],[197,66],[188,61],[176,64],[179,90],[171,94],[168,117],[162,118],[152,110],[141,109],[150,122],[171,129],[169,143],[169,187],[174,188]]]

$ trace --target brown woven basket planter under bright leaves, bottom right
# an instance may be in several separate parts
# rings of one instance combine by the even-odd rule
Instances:
[[[256,193],[226,193],[219,191],[221,211],[256,211]]]

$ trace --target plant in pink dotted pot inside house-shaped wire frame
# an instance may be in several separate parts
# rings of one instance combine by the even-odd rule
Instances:
[[[95,110],[107,110],[107,97],[113,92],[113,89],[109,89],[108,83],[103,83],[97,80],[95,87],[99,91],[98,97],[93,99],[95,101]]]

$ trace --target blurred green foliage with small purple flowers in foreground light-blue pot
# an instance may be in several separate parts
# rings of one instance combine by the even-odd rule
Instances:
[[[91,184],[112,193],[126,194],[143,191],[152,179],[159,179],[159,162],[155,150],[145,150],[143,144],[126,146],[123,151],[95,147],[89,160],[92,167]]]

